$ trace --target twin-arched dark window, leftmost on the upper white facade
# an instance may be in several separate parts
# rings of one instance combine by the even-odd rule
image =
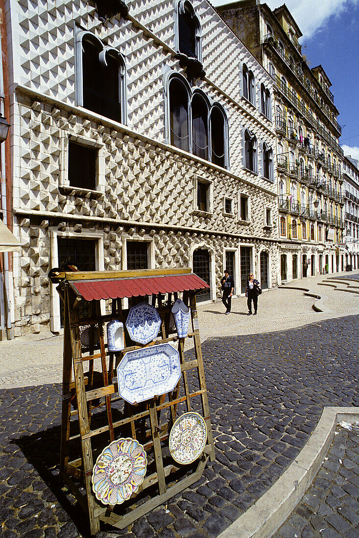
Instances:
[[[79,32],[77,44],[81,70],[78,103],[96,114],[126,123],[125,62],[122,56],[89,32]]]

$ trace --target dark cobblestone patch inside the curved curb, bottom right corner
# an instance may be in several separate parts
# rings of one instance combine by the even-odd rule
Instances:
[[[359,427],[335,433],[313,484],[273,538],[358,538]]]

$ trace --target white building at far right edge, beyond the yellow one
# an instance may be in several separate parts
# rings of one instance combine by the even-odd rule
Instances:
[[[343,159],[344,196],[346,211],[346,266],[359,268],[359,165],[350,155]]]

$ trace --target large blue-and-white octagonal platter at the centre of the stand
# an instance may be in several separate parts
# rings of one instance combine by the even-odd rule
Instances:
[[[179,353],[170,344],[127,351],[117,367],[119,394],[130,404],[174,390],[180,377]]]

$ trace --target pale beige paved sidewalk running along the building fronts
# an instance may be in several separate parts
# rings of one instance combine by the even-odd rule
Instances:
[[[307,323],[359,313],[359,295],[343,293],[321,286],[327,277],[351,277],[353,273],[335,273],[291,282],[288,287],[312,289],[323,296],[325,312],[314,312],[312,297],[298,289],[275,288],[258,299],[258,315],[247,316],[246,298],[232,300],[232,313],[224,315],[224,306],[216,303],[198,305],[201,340],[218,336],[261,334],[301,327]],[[348,285],[355,286],[355,282]],[[359,289],[359,282],[357,284]],[[188,344],[187,348],[190,349]],[[0,342],[0,388],[60,383],[62,380],[63,336],[50,331]]]

